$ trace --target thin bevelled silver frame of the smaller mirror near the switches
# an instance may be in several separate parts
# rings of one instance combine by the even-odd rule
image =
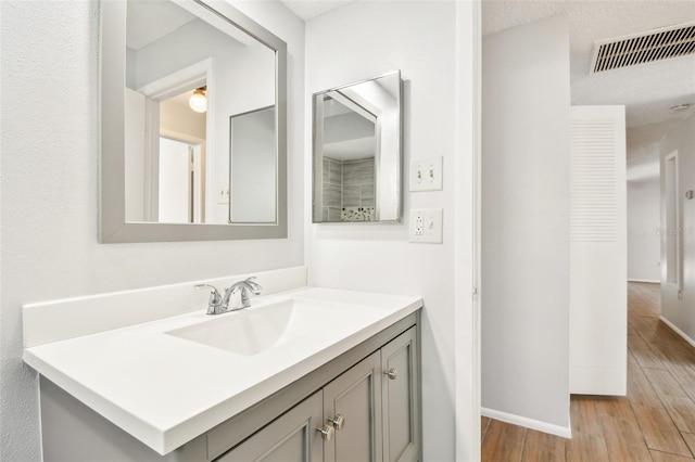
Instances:
[[[378,203],[379,203],[379,197],[381,195],[381,191],[379,191],[377,189],[377,185],[379,184],[379,179],[378,177],[381,176],[381,165],[380,165],[380,157],[381,157],[381,153],[375,153],[375,209],[376,209],[376,220],[370,220],[370,221],[361,221],[361,220],[355,220],[355,221],[324,221],[324,220],[317,220],[316,219],[316,195],[317,195],[317,169],[323,168],[321,166],[317,166],[316,165],[316,159],[317,158],[321,158],[324,156],[323,153],[323,145],[319,145],[319,136],[317,133],[317,126],[319,125],[319,121],[317,120],[317,117],[321,118],[320,125],[323,127],[323,114],[317,114],[317,104],[316,104],[316,100],[318,98],[324,97],[325,94],[328,93],[332,93],[332,92],[340,92],[341,90],[344,90],[346,88],[350,87],[354,87],[354,86],[358,86],[361,84],[365,84],[365,82],[369,82],[369,81],[374,81],[374,80],[378,80],[384,77],[396,77],[397,78],[397,82],[399,82],[399,133],[397,137],[395,138],[397,140],[397,155],[396,155],[396,162],[397,165],[395,166],[395,174],[396,174],[396,183],[395,183],[395,191],[393,191],[394,193],[394,197],[397,200],[397,204],[395,206],[395,214],[393,217],[390,218],[381,218],[381,210],[378,207]],[[404,153],[403,153],[403,128],[404,128],[404,90],[403,90],[403,78],[401,77],[401,70],[393,70],[387,74],[382,74],[379,75],[377,77],[374,78],[368,78],[368,79],[364,79],[364,80],[358,80],[352,84],[348,84],[348,85],[342,85],[340,87],[336,87],[336,88],[330,88],[328,90],[323,90],[323,91],[318,91],[316,93],[314,93],[312,95],[312,223],[314,224],[369,224],[369,223],[401,223],[403,221],[403,163],[404,163]],[[380,128],[377,126],[377,132],[380,130]]]

